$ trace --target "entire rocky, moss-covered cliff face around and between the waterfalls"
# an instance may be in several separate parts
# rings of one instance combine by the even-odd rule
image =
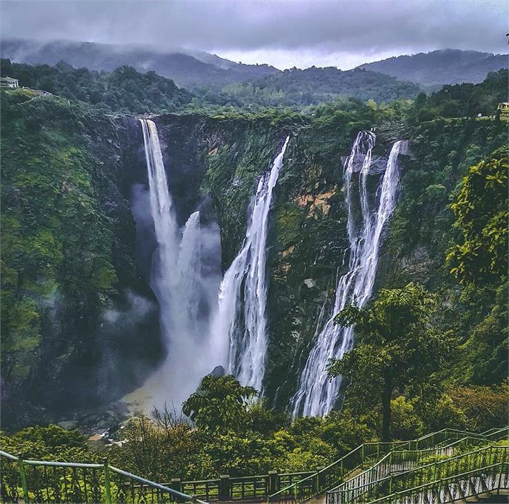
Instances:
[[[343,160],[366,125],[199,115],[154,121],[179,221],[200,209],[218,222],[223,270],[241,246],[257,177],[290,134],[268,238],[265,391],[284,408],[348,264]],[[470,162],[501,142],[503,128],[378,126],[375,166],[397,137],[410,137],[412,157],[377,287],[412,278],[436,285],[448,194]],[[3,420],[16,427],[121,397],[157,368],[164,349],[148,287],[152,224],[133,207],[148,184],[137,119],[45,97],[3,101],[2,128]],[[472,142],[483,147],[472,150]],[[437,180],[447,166],[447,180]]]

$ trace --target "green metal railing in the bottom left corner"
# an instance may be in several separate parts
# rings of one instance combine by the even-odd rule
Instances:
[[[0,451],[0,502],[206,504],[108,464],[23,460]]]

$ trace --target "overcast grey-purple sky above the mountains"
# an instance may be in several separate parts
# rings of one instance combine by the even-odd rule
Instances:
[[[507,52],[507,0],[1,0],[1,37],[186,47],[278,68]]]

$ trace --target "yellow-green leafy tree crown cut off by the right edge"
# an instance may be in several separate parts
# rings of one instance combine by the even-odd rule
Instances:
[[[490,159],[470,167],[450,206],[461,233],[447,260],[459,282],[486,284],[507,275],[508,161],[499,148]]]

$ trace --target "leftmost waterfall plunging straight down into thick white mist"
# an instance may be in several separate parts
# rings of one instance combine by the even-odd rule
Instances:
[[[156,124],[140,119],[145,144],[150,193],[150,214],[157,248],[152,255],[150,287],[157,297],[160,325],[168,351],[166,361],[134,399],[150,407],[165,401],[179,408],[210,372],[206,357],[210,310],[217,302],[219,278],[204,271],[204,256],[210,257],[219,230],[200,224],[198,211],[183,229],[179,227],[163,164]],[[211,244],[212,243],[212,244]],[[214,250],[214,253],[217,253]],[[210,308],[210,309],[208,309]]]

